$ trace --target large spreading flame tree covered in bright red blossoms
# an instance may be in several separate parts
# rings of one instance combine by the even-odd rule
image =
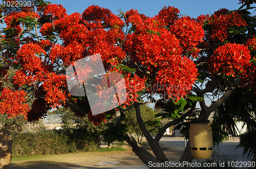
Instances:
[[[116,123],[109,125],[118,131],[115,138],[126,140],[147,165],[149,161],[168,161],[159,140],[166,128],[190,115],[197,102],[200,120],[207,120],[216,110],[244,120],[253,129],[255,104],[248,99],[239,101],[255,97],[255,18],[248,11],[253,3],[241,1],[239,10],[220,9],[197,18],[181,16],[170,6],[147,17],[137,10],[120,11],[117,16],[94,5],[82,14],[68,15],[62,5],[41,0],[14,11],[2,5],[1,23],[6,27],[0,37],[1,113],[25,115],[28,121],[35,121],[47,116],[51,108],[66,106],[77,116],[88,116],[95,125],[115,115]],[[96,53],[100,53],[107,73],[123,74],[127,99],[113,110],[92,116],[87,97],[69,94],[65,71]],[[3,85],[6,80],[12,82],[11,87]],[[204,97],[209,93],[219,97],[206,106]],[[155,101],[152,96],[156,94],[161,99]],[[230,113],[227,110],[234,103],[230,99],[234,94],[239,95],[235,105],[240,107]],[[160,128],[155,138],[140,115],[143,96],[165,110],[160,116],[173,120]],[[154,155],[126,132],[121,117],[131,108],[136,110],[137,122]],[[192,159],[188,144],[180,160]]]

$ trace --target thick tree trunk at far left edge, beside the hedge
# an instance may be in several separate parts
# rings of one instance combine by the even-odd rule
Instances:
[[[9,169],[12,159],[12,139],[8,130],[0,131],[0,168]]]

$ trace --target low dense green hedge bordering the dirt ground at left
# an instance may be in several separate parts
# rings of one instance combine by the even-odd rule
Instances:
[[[12,134],[13,156],[65,154],[88,151],[99,146],[99,136],[88,134],[82,129]]]

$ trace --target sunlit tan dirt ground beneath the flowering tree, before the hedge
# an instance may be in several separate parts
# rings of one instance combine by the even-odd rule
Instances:
[[[100,165],[94,165],[100,161],[120,161],[115,166],[143,164],[129,145],[123,145],[122,147],[126,149],[126,151],[71,153],[33,158],[32,160],[23,160],[23,157],[20,157],[19,160],[11,161],[10,169],[102,167]],[[184,150],[183,147],[177,147],[177,145],[168,145],[168,147],[162,145],[161,147],[170,161],[178,161]],[[147,147],[146,149],[153,154],[150,148]]]

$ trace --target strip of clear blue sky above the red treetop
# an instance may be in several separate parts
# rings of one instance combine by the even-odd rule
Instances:
[[[180,10],[180,14],[186,14],[190,17],[197,17],[201,14],[212,14],[220,8],[229,10],[238,9],[241,5],[239,0],[183,0],[183,1],[145,1],[145,0],[130,0],[130,1],[105,1],[105,0],[49,0],[53,4],[61,4],[66,8],[68,14],[74,12],[82,13],[90,5],[99,5],[103,8],[110,9],[114,14],[118,14],[118,10],[126,12],[130,9],[137,9],[139,13],[146,16],[155,16],[164,6],[174,6]]]

